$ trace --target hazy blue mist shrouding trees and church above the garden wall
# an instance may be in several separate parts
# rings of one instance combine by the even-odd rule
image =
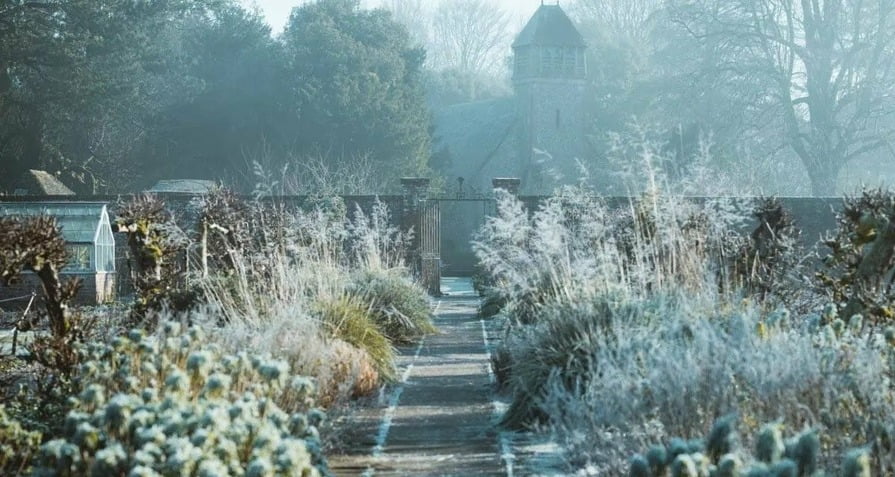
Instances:
[[[0,193],[32,170],[90,194],[426,176],[837,196],[895,177],[893,2],[364,2],[0,4]]]

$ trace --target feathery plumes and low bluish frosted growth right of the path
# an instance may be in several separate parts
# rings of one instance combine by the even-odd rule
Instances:
[[[874,468],[895,472],[895,329],[738,290],[741,204],[651,193],[609,209],[568,188],[537,210],[501,193],[497,206],[475,249],[505,305],[504,424],[546,425],[591,475],[730,413],[747,436],[778,419],[822,429],[831,459],[872,444]]]

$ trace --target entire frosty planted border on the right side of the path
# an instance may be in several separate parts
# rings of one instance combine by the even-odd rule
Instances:
[[[846,199],[816,248],[772,199],[497,203],[475,247],[502,424],[570,473],[895,472],[895,195]]]

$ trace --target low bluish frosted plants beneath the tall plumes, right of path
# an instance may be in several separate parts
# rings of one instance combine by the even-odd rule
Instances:
[[[875,442],[874,456],[891,462],[895,361],[883,336],[868,339],[858,325],[821,327],[748,304],[719,310],[718,303],[680,297],[604,304],[603,311],[566,307],[511,344],[513,382],[529,391],[528,402],[567,445],[570,461],[590,463],[601,475],[620,472],[637,448],[698,435],[730,412],[750,432],[778,418],[796,428],[821,426],[834,453]],[[530,384],[544,375],[546,384]],[[516,397],[514,405],[521,402]]]

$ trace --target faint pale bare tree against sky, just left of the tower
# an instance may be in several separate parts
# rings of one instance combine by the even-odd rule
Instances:
[[[510,17],[487,0],[443,0],[432,22],[433,60],[439,68],[498,74],[509,54]]]

